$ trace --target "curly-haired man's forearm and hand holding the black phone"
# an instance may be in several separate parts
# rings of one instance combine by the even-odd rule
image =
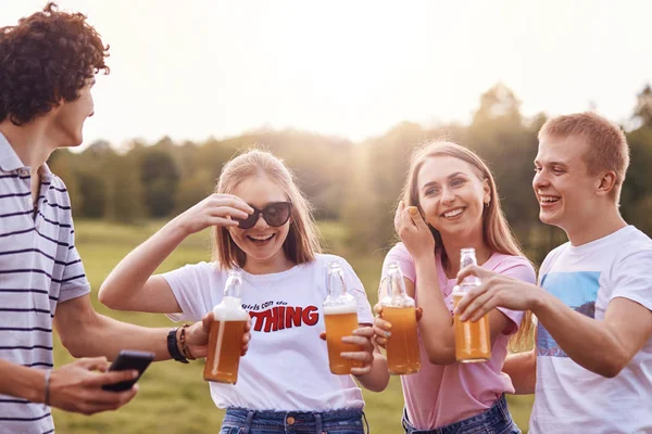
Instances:
[[[131,400],[138,387],[115,393],[103,391],[102,385],[133,380],[138,372],[91,372],[105,371],[108,368],[109,363],[103,357],[80,359],[53,369],[46,386],[46,370],[0,359],[0,393],[85,414],[115,410]]]

